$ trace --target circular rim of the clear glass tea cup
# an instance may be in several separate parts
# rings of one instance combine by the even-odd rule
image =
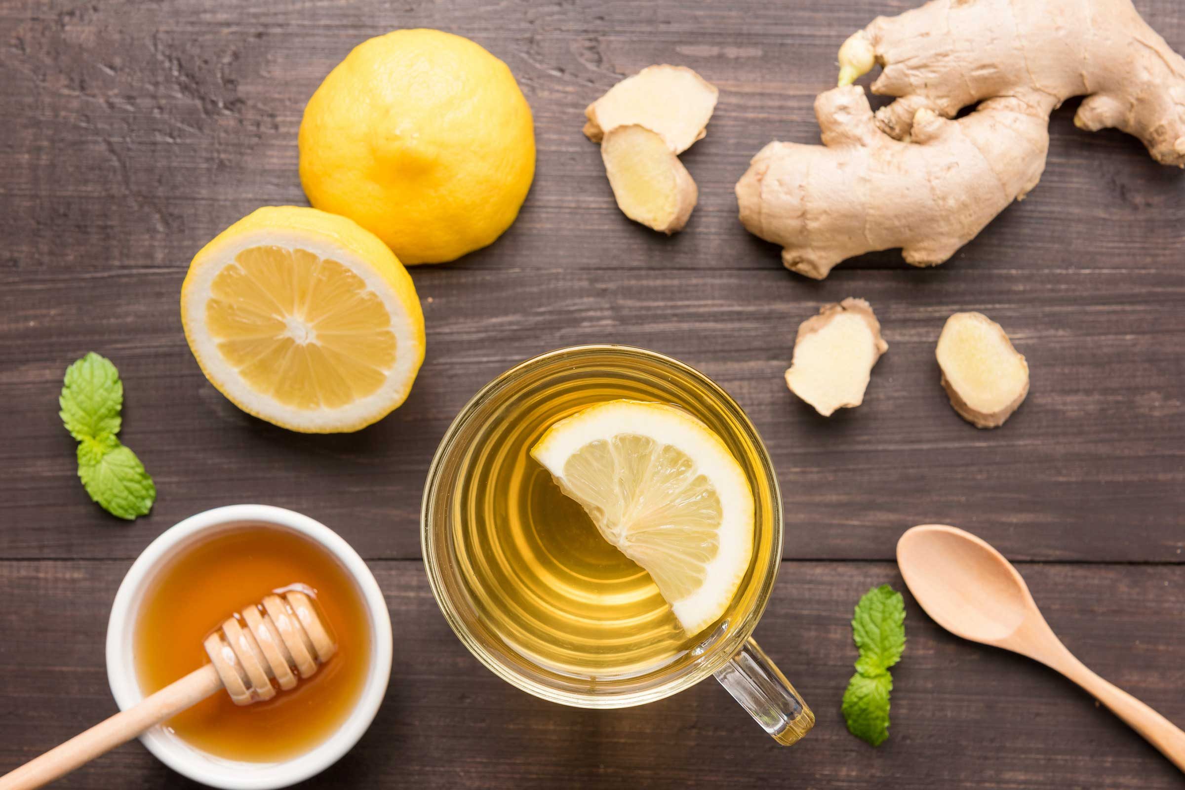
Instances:
[[[485,404],[487,398],[491,397],[491,393],[501,387],[508,379],[521,375],[532,367],[546,365],[556,358],[607,352],[643,357],[656,360],[664,365],[668,365],[685,375],[703,383],[726,409],[730,409],[734,412],[734,416],[741,424],[742,429],[745,430],[751,437],[754,448],[756,449],[757,456],[761,461],[762,470],[766,473],[767,481],[769,483],[770,497],[773,500],[773,524],[770,526],[773,533],[770,546],[773,561],[769,564],[769,569],[760,583],[756,605],[747,614],[744,619],[736,625],[736,628],[724,635],[723,641],[726,646],[724,649],[715,650],[712,655],[709,656],[707,661],[704,661],[703,663],[696,666],[692,672],[687,672],[683,676],[677,677],[673,682],[668,682],[664,686],[613,695],[591,696],[556,688],[513,670],[469,630],[444,589],[444,580],[441,578],[441,571],[437,566],[440,563],[447,561],[447,558],[438,555],[435,542],[429,539],[429,529],[430,518],[436,508],[435,495],[440,486],[441,468],[444,464],[446,457],[450,451],[453,451],[453,445],[456,442],[457,435],[467,425],[468,420],[473,417],[473,413],[482,404]],[[724,666],[728,664],[728,662],[731,661],[732,657],[744,647],[749,637],[752,635],[754,628],[756,628],[757,622],[764,614],[773,596],[774,583],[776,582],[782,560],[784,524],[786,515],[782,505],[782,492],[777,482],[777,473],[774,469],[774,462],[769,455],[769,449],[766,447],[766,443],[761,438],[761,433],[758,433],[757,428],[752,424],[752,420],[749,419],[749,416],[732,398],[732,396],[724,390],[724,387],[717,384],[706,373],[703,373],[691,365],[681,362],[660,352],[621,343],[582,343],[544,352],[513,365],[485,384],[472,398],[469,398],[465,406],[462,406],[461,411],[457,412],[456,417],[449,424],[448,430],[444,431],[444,436],[441,438],[441,442],[436,448],[436,452],[433,455],[431,464],[428,468],[428,479],[424,483],[424,494],[419,512],[419,545],[421,555],[423,557],[424,563],[424,571],[428,574],[429,586],[431,587],[433,597],[436,599],[436,604],[444,615],[444,619],[448,622],[449,628],[461,643],[465,644],[466,649],[468,649],[482,666],[512,686],[551,702],[559,702],[561,705],[583,708],[622,708],[666,699],[667,696],[694,686],[724,668]]]

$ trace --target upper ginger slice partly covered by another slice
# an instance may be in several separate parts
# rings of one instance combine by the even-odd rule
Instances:
[[[646,66],[588,105],[584,134],[592,142],[623,126],[640,124],[656,133],[672,154],[703,140],[719,90],[686,66]]]

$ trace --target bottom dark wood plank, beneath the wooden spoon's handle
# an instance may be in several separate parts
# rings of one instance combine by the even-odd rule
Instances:
[[[418,561],[372,564],[398,638],[378,719],[318,788],[760,786],[1039,789],[1180,786],[1180,773],[1106,708],[1026,659],[962,642],[907,595],[909,642],[878,750],[851,737],[852,605],[892,583],[884,563],[787,563],[757,629],[812,705],[815,730],[782,750],[711,680],[640,708],[582,711],[524,694],[455,638]],[[0,563],[0,770],[114,712],[101,646],[124,563]],[[1026,565],[1068,647],[1185,722],[1179,656],[1185,567]],[[396,778],[397,777],[397,778]],[[139,744],[68,786],[184,786]]]

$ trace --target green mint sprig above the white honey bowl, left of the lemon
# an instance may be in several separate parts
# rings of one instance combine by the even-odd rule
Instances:
[[[59,416],[78,439],[78,479],[100,507],[133,520],[147,515],[156,486],[136,454],[120,444],[123,383],[115,365],[91,352],[66,368]]]

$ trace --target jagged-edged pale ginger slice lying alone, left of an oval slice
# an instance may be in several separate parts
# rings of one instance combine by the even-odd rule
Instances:
[[[786,386],[824,417],[864,403],[872,366],[889,343],[863,298],[824,304],[799,327]]]

